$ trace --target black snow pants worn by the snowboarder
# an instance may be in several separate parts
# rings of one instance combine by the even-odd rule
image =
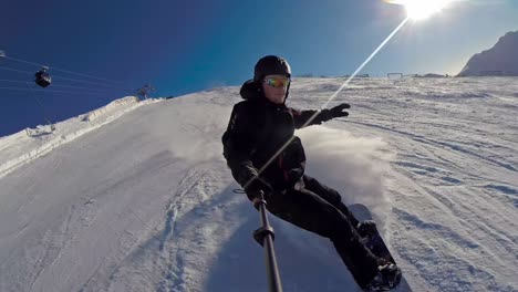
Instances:
[[[361,242],[358,220],[342,198],[317,179],[303,177],[304,188],[269,196],[267,209],[302,229],[329,238],[354,280],[365,288],[377,273],[377,259]]]

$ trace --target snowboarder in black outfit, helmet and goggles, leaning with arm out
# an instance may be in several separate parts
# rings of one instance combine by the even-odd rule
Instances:
[[[394,279],[401,271],[376,258],[362,243],[358,231],[361,223],[342,202],[340,194],[304,175],[305,154],[294,129],[307,126],[317,111],[286,106],[290,82],[288,62],[268,55],[257,62],[253,79],[242,85],[240,95],[245,101],[234,106],[222,136],[224,156],[234,178],[255,205],[262,191],[271,213],[329,238],[362,289],[375,291],[396,285]],[[349,104],[322,109],[309,125],[348,116],[346,108]]]

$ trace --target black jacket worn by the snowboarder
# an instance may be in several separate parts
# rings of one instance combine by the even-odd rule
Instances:
[[[289,145],[261,173],[260,177],[277,191],[293,187],[304,174],[305,154],[294,129],[301,128],[317,111],[296,111],[273,104],[265,97],[259,84],[245,83],[222,136],[224,155],[234,178],[241,185],[258,175],[276,153]],[[309,124],[331,119],[329,109],[321,111]]]

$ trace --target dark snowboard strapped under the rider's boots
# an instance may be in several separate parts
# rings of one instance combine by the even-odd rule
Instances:
[[[349,206],[349,210],[360,222],[365,221],[365,220],[374,220],[371,211],[363,204],[353,204]],[[367,234],[369,236],[362,238],[362,241],[372,251],[372,253],[374,253],[374,255],[379,258],[385,259],[387,262],[391,262],[397,265],[397,263],[395,262],[394,258],[391,254],[391,251],[386,247],[385,241],[383,241],[383,238],[381,237],[377,228],[374,226],[374,228],[371,228],[367,231]],[[391,289],[390,291],[412,292],[412,289],[402,274],[400,284],[395,286],[394,289]]]

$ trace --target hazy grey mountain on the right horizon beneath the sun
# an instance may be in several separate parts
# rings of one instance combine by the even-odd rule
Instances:
[[[489,50],[469,59],[459,76],[518,76],[518,31],[508,32]]]

